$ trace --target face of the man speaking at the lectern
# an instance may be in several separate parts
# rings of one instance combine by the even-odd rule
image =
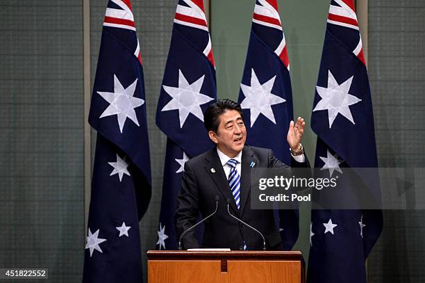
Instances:
[[[208,136],[224,154],[233,158],[244,148],[247,129],[238,111],[227,110],[219,116],[217,133],[209,131]]]

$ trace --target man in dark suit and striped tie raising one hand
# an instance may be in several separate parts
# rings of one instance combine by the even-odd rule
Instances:
[[[203,248],[231,248],[231,250],[261,250],[263,238],[246,225],[228,215],[227,200],[234,216],[258,229],[266,240],[267,250],[283,250],[281,235],[270,210],[251,209],[250,166],[282,168],[290,174],[290,167],[273,155],[272,150],[245,145],[247,130],[240,104],[222,99],[212,104],[204,114],[208,136],[216,147],[185,163],[181,191],[178,195],[176,232],[178,237],[203,217],[217,213],[204,223]],[[301,138],[305,122],[291,121],[287,140],[292,155],[292,167],[308,167]],[[296,211],[294,211],[296,213]],[[193,232],[183,236],[183,248],[200,248]]]

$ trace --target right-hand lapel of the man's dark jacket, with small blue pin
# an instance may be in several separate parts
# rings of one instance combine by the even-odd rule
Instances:
[[[241,182],[240,182],[240,215],[244,212],[245,205],[247,204],[249,191],[251,191],[251,162],[258,164],[258,159],[249,146],[245,146],[242,150],[242,164],[241,164]]]

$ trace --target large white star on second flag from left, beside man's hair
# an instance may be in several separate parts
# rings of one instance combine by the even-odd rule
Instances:
[[[178,88],[174,86],[164,86],[165,92],[172,97],[167,105],[161,109],[161,111],[170,111],[178,109],[178,119],[180,120],[180,127],[183,128],[189,113],[192,113],[195,117],[203,122],[203,113],[201,109],[202,104],[206,104],[213,100],[208,95],[203,95],[200,91],[203,84],[203,78],[201,76],[197,81],[190,84],[185,78],[183,72],[178,69]]]

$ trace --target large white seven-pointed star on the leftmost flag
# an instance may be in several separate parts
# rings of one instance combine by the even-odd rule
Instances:
[[[101,97],[103,97],[103,99],[109,102],[108,108],[103,111],[99,118],[117,115],[119,131],[121,132],[122,129],[124,129],[124,123],[127,118],[140,127],[134,108],[142,106],[144,104],[144,100],[138,97],[133,97],[137,83],[138,79],[135,79],[130,86],[124,89],[124,86],[122,86],[122,83],[114,74],[114,92],[97,92],[101,95]]]

